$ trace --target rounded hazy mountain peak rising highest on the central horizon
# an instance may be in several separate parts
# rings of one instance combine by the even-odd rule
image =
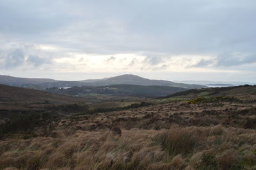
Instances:
[[[82,81],[85,82],[85,81]],[[184,83],[176,83],[172,81],[163,81],[163,80],[150,80],[145,79],[143,77],[139,77],[137,75],[125,74],[119,75],[116,77],[111,77],[108,79],[102,80],[94,80],[93,82],[87,82],[86,84],[90,86],[109,86],[115,84],[132,84],[132,85],[140,85],[140,86],[172,86],[179,88],[205,88],[205,86],[200,86],[196,84],[184,84]]]

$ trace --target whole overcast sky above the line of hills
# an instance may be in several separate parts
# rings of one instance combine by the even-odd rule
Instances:
[[[255,0],[1,0],[0,74],[256,82]]]

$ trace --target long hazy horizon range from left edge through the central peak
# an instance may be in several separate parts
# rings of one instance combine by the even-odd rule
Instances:
[[[84,81],[56,81],[54,79],[29,79],[0,75],[0,84],[40,90],[53,87],[65,88],[73,86],[109,86],[116,84],[132,84],[140,86],[172,86],[187,89],[206,88],[206,86],[196,84],[184,84],[163,80],[150,80],[139,77],[137,75],[119,75],[107,79],[89,79]]]

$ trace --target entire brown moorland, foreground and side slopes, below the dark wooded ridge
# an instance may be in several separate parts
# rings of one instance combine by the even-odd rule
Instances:
[[[0,89],[0,169],[256,168],[256,86],[164,97]]]

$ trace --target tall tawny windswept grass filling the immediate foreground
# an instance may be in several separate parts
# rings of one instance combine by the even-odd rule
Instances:
[[[255,169],[256,130],[171,127],[0,141],[0,169]]]

